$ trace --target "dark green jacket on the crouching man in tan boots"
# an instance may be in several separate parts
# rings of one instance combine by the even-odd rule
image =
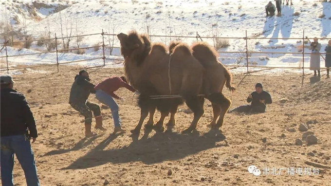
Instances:
[[[94,85],[90,83],[90,78],[83,75],[76,75],[70,90],[69,103],[85,104],[90,93],[95,93]]]

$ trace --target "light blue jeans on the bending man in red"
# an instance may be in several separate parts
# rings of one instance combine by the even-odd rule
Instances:
[[[106,93],[102,90],[96,90],[95,96],[101,103],[107,105],[110,108],[115,127],[121,127],[121,119],[118,114],[119,107],[114,98],[111,97],[109,93]]]

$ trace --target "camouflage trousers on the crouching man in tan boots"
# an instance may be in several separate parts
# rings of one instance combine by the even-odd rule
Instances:
[[[71,103],[70,105],[72,108],[74,108],[74,110],[78,111],[85,117],[85,124],[88,125],[92,124],[92,112],[94,117],[101,115],[100,106],[90,101],[87,101],[85,104]]]

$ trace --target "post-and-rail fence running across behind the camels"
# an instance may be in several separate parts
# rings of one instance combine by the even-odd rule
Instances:
[[[7,73],[9,73],[9,71],[12,70],[19,70],[19,69],[24,69],[27,67],[21,67],[21,68],[9,68],[8,67],[8,57],[15,57],[15,56],[28,56],[28,55],[38,55],[38,54],[46,54],[46,53],[56,53],[56,64],[43,64],[43,65],[30,65],[28,68],[37,68],[37,67],[45,67],[45,66],[57,66],[57,71],[59,71],[59,65],[61,64],[68,64],[68,63],[75,63],[75,62],[82,62],[82,61],[89,61],[89,60],[95,60],[95,59],[103,59],[103,65],[101,66],[95,66],[95,67],[104,67],[106,65],[106,60],[123,60],[123,59],[112,59],[112,58],[106,58],[105,56],[105,48],[119,48],[119,47],[114,47],[114,46],[110,46],[110,45],[105,45],[105,38],[104,36],[116,36],[116,34],[108,34],[105,33],[103,30],[101,33],[96,33],[96,34],[88,34],[88,35],[80,35],[80,36],[71,36],[71,37],[84,37],[84,36],[92,36],[92,35],[101,35],[102,36],[102,45],[98,45],[98,46],[91,46],[91,47],[83,47],[83,48],[71,48],[71,49],[64,49],[64,50],[58,50],[58,39],[64,39],[64,38],[69,38],[69,37],[56,37],[56,33],[55,33],[55,37],[54,38],[48,38],[48,39],[33,39],[33,40],[22,40],[22,41],[14,41],[14,42],[9,42],[8,40],[6,40],[6,37],[4,38],[4,42],[1,43],[2,48],[1,50],[4,48],[6,55],[5,56],[0,56],[0,58],[6,58],[6,65],[7,68],[6,69],[0,69],[0,71],[7,71]],[[253,73],[253,72],[259,72],[262,70],[257,70],[257,71],[249,71],[250,68],[264,68],[265,70],[270,70],[270,69],[302,69],[302,74],[304,75],[304,69],[309,69],[309,67],[305,67],[304,65],[304,61],[305,61],[305,55],[310,55],[312,53],[309,52],[305,52],[305,43],[306,41],[308,41],[309,39],[313,39],[313,38],[308,38],[305,37],[305,31],[303,31],[302,33],[302,37],[248,37],[247,36],[247,30],[245,31],[245,36],[244,37],[201,37],[199,35],[198,32],[196,32],[196,36],[164,36],[164,35],[149,35],[149,38],[152,37],[165,37],[165,38],[195,38],[197,41],[203,41],[203,39],[243,39],[245,40],[245,51],[218,51],[219,53],[231,53],[231,54],[235,54],[235,53],[240,53],[240,54],[245,54],[245,58],[246,58],[246,65],[225,65],[227,67],[233,67],[233,68],[238,68],[238,67],[246,67],[247,69],[247,74],[248,73]],[[302,40],[302,52],[257,52],[257,51],[249,51],[248,50],[248,40],[250,39],[295,39],[295,40]],[[331,39],[328,37],[322,37],[322,38],[318,38],[318,39]],[[9,44],[14,44],[14,43],[18,43],[18,42],[33,42],[33,41],[45,41],[45,40],[55,40],[55,51],[47,51],[47,52],[39,52],[39,53],[32,53],[32,54],[21,54],[21,55],[12,55],[12,56],[8,56],[7,54],[7,46]],[[81,49],[89,49],[89,48],[94,48],[94,47],[102,47],[102,56],[100,57],[95,57],[95,58],[91,58],[91,59],[83,59],[83,60],[74,60],[74,61],[69,61],[69,62],[60,62],[58,59],[58,53],[61,52],[67,52],[67,51],[73,51],[73,50],[81,50]],[[251,56],[251,54],[300,54],[302,55],[302,67],[277,67],[277,66],[256,66],[256,65],[249,65],[249,57]],[[325,55],[326,53],[320,53],[320,55]],[[323,56],[322,56],[323,57]],[[323,57],[324,58],[324,57]],[[325,68],[321,68],[321,69],[325,69]],[[246,74],[245,73],[245,74]]]

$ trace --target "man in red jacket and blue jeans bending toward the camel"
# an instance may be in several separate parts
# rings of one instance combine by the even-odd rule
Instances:
[[[136,92],[136,90],[130,86],[127,82],[125,76],[121,77],[110,77],[103,80],[101,83],[97,84],[94,89],[96,91],[96,98],[103,104],[110,107],[112,118],[114,119],[115,129],[114,132],[125,131],[121,126],[121,119],[118,114],[119,107],[115,99],[120,99],[124,101],[124,98],[116,95],[114,92],[119,88],[125,87],[131,92]]]

